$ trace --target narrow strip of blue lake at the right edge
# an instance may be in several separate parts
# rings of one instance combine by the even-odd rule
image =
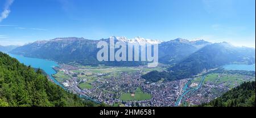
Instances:
[[[224,65],[223,68],[228,70],[255,71],[255,64],[229,64]]]

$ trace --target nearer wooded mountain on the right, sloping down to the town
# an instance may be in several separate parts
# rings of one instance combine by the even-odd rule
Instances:
[[[189,78],[226,64],[255,64],[255,49],[236,47],[227,42],[213,43],[182,59],[167,71],[152,71],[142,77],[153,82],[161,78],[174,81]]]

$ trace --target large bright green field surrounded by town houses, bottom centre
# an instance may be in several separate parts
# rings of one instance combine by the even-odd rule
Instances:
[[[147,100],[151,99],[151,95],[148,93],[143,93],[141,88],[137,88],[134,97],[131,96],[131,93],[123,93],[121,95],[121,100],[129,101],[129,100]]]

